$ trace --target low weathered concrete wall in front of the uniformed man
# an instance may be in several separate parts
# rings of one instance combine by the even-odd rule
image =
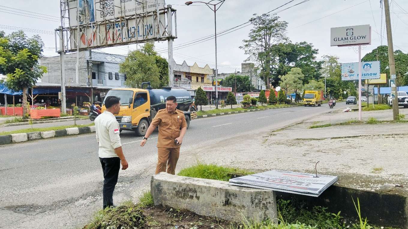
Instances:
[[[276,222],[275,192],[229,185],[226,181],[175,176],[161,172],[152,177],[155,205],[193,211],[202,216],[240,222],[273,219]]]

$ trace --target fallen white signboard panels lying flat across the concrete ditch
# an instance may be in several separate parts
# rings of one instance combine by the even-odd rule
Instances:
[[[317,197],[337,181],[337,176],[321,174],[317,174],[317,176],[315,177],[315,174],[310,173],[271,170],[232,178],[229,182],[231,185]]]

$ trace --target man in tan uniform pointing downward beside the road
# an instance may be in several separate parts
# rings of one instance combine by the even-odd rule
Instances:
[[[140,143],[140,146],[144,146],[155,128],[159,127],[159,139],[157,140],[158,160],[155,174],[160,172],[175,174],[177,160],[180,155],[180,146],[187,131],[186,117],[176,107],[176,97],[167,97],[166,109],[157,112]]]

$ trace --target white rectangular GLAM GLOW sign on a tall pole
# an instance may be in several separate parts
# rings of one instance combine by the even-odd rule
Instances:
[[[330,46],[371,44],[371,26],[357,25],[330,29]]]

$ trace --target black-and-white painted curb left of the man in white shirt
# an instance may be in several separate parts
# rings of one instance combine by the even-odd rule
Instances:
[[[38,139],[48,139],[53,137],[63,137],[75,134],[88,134],[92,132],[95,132],[95,126],[73,127],[62,130],[49,130],[41,132],[0,135],[0,145],[24,141],[33,141]]]

